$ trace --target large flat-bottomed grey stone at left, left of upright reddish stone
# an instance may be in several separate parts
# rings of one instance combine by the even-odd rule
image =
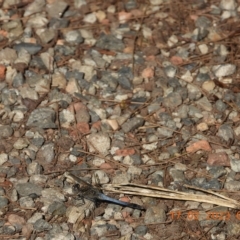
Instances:
[[[28,118],[28,127],[56,128],[55,111],[51,108],[39,108],[33,110]]]

